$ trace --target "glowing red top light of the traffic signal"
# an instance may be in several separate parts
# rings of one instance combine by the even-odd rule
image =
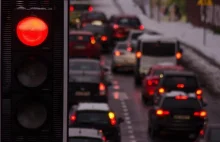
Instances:
[[[16,27],[19,40],[27,46],[38,46],[48,36],[48,25],[40,18],[27,17],[22,19]]]

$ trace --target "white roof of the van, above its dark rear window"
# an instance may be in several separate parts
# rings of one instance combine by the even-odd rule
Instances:
[[[177,42],[175,37],[171,36],[163,36],[163,35],[149,35],[149,34],[142,34],[138,37],[138,40],[143,42]]]

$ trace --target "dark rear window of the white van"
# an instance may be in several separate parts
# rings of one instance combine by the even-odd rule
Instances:
[[[155,57],[170,57],[176,54],[174,43],[143,43],[142,54]]]

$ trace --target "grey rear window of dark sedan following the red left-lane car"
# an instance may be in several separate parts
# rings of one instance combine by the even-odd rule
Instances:
[[[86,61],[70,61],[69,69],[74,71],[100,71],[100,65],[96,62],[86,62]]]

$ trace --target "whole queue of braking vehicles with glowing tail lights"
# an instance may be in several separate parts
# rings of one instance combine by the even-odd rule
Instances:
[[[151,106],[152,139],[165,132],[209,141],[207,103],[196,74],[181,66],[183,50],[175,37],[145,31],[134,15],[108,19],[85,1],[70,2],[69,29],[70,141],[121,141],[124,120],[108,105],[112,73],[120,69],[134,72],[143,103]],[[111,67],[100,62],[103,52],[112,54]]]

